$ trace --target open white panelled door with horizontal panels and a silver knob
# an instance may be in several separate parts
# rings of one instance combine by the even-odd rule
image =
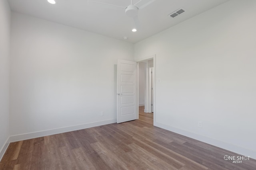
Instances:
[[[117,123],[137,119],[137,63],[117,61]]]

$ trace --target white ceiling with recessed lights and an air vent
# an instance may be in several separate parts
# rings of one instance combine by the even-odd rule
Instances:
[[[141,41],[228,0],[155,0],[138,12],[139,27],[132,32],[135,24],[126,16],[123,8],[87,2],[87,0],[8,0],[12,11],[29,14],[38,18],[76,27],[93,33],[106,35],[131,43]],[[117,6],[128,6],[130,0],[93,0]],[[133,4],[139,0],[133,0]],[[150,0],[142,0],[146,4]],[[170,18],[168,14],[182,8],[181,15]]]

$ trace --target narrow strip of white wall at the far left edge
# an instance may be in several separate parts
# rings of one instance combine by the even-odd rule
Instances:
[[[9,144],[10,7],[0,0],[0,160]]]

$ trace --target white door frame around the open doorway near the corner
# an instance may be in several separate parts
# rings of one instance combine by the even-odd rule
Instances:
[[[153,91],[153,125],[155,125],[156,123],[156,55],[150,55],[148,57],[142,57],[139,58],[138,60],[135,60],[137,62],[137,70],[139,69],[139,63],[143,62],[143,61],[148,61],[148,60],[152,60],[153,59],[153,67],[154,67],[154,74],[153,74],[153,87],[154,87],[154,91]],[[139,119],[139,75],[138,75],[138,71],[137,71],[137,119]],[[147,90],[148,93],[148,90]]]

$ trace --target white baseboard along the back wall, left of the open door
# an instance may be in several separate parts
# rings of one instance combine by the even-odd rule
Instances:
[[[111,124],[111,123],[116,123],[116,119],[109,119],[109,120],[105,120],[105,121],[97,121],[97,122],[86,123],[86,124],[81,124],[81,125],[61,127],[61,128],[58,128],[58,129],[50,129],[50,130],[46,130],[46,131],[37,131],[37,132],[32,132],[32,133],[24,133],[24,134],[20,134],[20,135],[13,135],[13,136],[10,136],[10,142],[23,141],[23,140],[26,140],[26,139],[33,139],[33,138],[37,138],[37,137],[55,135],[55,134],[59,134],[59,133],[76,131],[76,130],[80,130],[80,129],[87,129],[87,128],[90,128],[90,127],[107,125],[107,124]]]

